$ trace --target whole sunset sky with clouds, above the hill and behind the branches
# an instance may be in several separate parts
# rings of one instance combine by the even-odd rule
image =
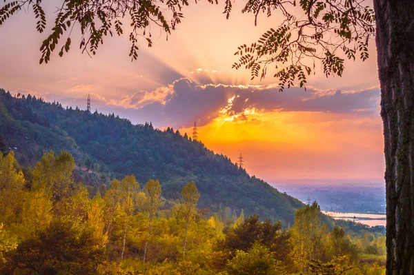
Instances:
[[[45,6],[50,21],[55,2]],[[141,41],[134,62],[128,35],[104,39],[92,58],[77,50],[75,35],[70,52],[62,58],[55,52],[47,65],[39,65],[39,47],[48,32],[37,33],[32,12],[20,12],[0,27],[0,88],[81,109],[90,94],[92,110],[182,134],[190,135],[196,122],[207,147],[233,161],[243,154],[246,170],[270,183],[372,179],[382,184],[373,41],[370,59],[346,61],[342,77],[326,78],[317,66],[306,91],[279,92],[272,74],[251,81],[247,70],[231,68],[239,45],[277,25],[275,17],[260,17],[255,26],[241,9],[235,3],[226,20],[223,3],[190,5],[168,41],[161,30],[151,30],[154,45],[147,48]]]

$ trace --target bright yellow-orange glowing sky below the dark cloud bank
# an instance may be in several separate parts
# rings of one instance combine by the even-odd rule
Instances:
[[[191,136],[193,128],[181,129]],[[199,140],[263,179],[375,179],[384,169],[377,116],[266,112],[247,121],[219,117],[199,127]]]

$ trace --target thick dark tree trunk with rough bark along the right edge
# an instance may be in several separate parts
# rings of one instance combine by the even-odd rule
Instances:
[[[414,1],[374,0],[386,161],[386,274],[414,274]]]

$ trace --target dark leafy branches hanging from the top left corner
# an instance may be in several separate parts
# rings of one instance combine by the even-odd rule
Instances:
[[[42,33],[46,28],[46,13],[42,8],[41,0],[15,0],[8,1],[0,8],[0,26],[19,10],[33,10],[37,19],[37,31]],[[208,0],[209,3],[217,3]],[[66,0],[56,10],[56,19],[48,37],[41,44],[40,63],[48,63],[50,55],[61,43],[59,56],[70,50],[72,29],[80,26],[81,41],[79,48],[89,55],[96,54],[99,45],[103,44],[103,38],[110,35],[120,36],[124,33],[123,22],[130,21],[128,26],[129,40],[131,43],[130,57],[135,60],[138,57],[137,50],[139,38],[144,38],[148,47],[152,45],[151,26],[159,27],[170,34],[177,24],[181,23],[183,14],[181,9],[188,6],[188,0]]]

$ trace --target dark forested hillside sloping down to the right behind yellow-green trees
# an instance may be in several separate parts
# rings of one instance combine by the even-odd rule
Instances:
[[[96,190],[109,179],[134,174],[140,183],[159,179],[163,196],[179,198],[181,188],[195,181],[199,208],[224,210],[227,215],[259,214],[293,224],[297,199],[240,170],[203,143],[150,123],[132,125],[115,114],[104,115],[62,108],[34,96],[16,98],[0,90],[0,134],[17,160],[28,167],[44,152],[68,150],[75,157],[79,179]],[[17,149],[16,149],[17,148]]]

